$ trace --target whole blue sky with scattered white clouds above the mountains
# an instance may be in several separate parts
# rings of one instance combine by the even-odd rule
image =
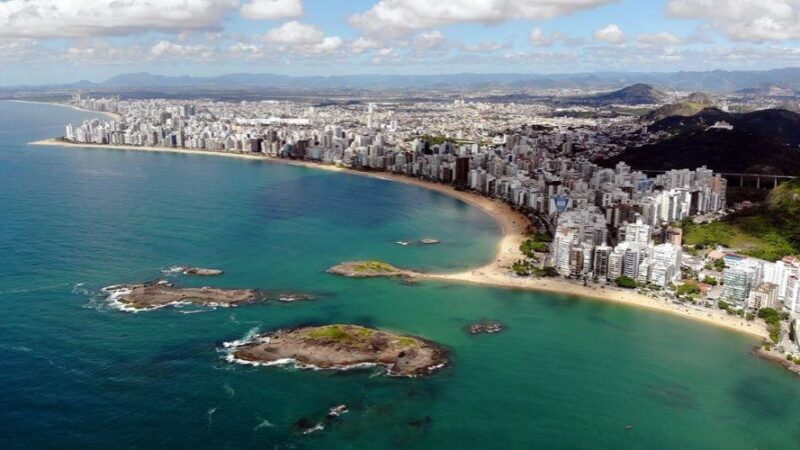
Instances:
[[[800,0],[0,0],[0,85],[800,66]]]

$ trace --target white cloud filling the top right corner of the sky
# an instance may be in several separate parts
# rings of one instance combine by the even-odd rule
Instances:
[[[667,13],[707,20],[737,41],[800,39],[798,0],[670,0]]]

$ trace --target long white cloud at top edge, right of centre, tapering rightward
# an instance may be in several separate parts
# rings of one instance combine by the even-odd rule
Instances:
[[[617,0],[380,0],[350,23],[366,33],[402,35],[455,23],[551,19]]]

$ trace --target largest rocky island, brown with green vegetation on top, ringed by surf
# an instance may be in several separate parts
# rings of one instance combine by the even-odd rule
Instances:
[[[225,346],[232,362],[338,370],[374,365],[397,377],[430,375],[448,364],[438,344],[356,325],[279,330]]]

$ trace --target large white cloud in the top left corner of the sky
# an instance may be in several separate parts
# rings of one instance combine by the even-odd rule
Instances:
[[[0,36],[63,38],[217,29],[238,4],[238,0],[6,0],[0,2]]]

